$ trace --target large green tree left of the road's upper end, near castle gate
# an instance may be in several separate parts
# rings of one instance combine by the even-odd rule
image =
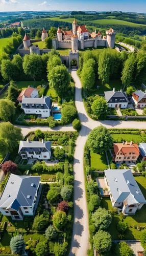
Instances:
[[[47,75],[50,87],[62,98],[68,93],[70,74],[64,65],[56,66]]]

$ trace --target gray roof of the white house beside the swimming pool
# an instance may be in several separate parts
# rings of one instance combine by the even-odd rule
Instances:
[[[52,100],[50,96],[41,98],[22,98],[22,104],[45,104],[48,109],[51,109]]]

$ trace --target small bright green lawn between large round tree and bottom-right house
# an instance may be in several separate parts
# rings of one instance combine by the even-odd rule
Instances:
[[[108,168],[105,154],[100,155],[100,154],[90,152],[90,157],[91,157],[91,168],[95,168],[98,170],[104,170]]]

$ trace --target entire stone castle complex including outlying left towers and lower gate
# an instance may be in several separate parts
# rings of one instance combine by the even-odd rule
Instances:
[[[67,66],[71,66],[71,62],[76,63],[79,67],[79,49],[84,50],[89,47],[109,47],[114,48],[115,45],[115,31],[111,28],[106,31],[106,36],[102,36],[101,32],[89,33],[85,25],[77,25],[76,19],[72,23],[72,30],[64,31],[58,28],[56,38],[52,39],[52,45],[54,49],[64,48],[70,49],[68,56],[61,56],[62,62]],[[21,56],[25,54],[35,53],[43,54],[50,51],[50,49],[39,49],[37,45],[33,45],[34,41],[45,41],[48,37],[46,30],[43,28],[41,39],[30,40],[26,34],[23,38],[23,44],[21,44],[17,53]]]

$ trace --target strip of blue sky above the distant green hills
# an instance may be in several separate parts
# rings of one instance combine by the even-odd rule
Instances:
[[[0,11],[146,12],[146,0],[0,0]]]

